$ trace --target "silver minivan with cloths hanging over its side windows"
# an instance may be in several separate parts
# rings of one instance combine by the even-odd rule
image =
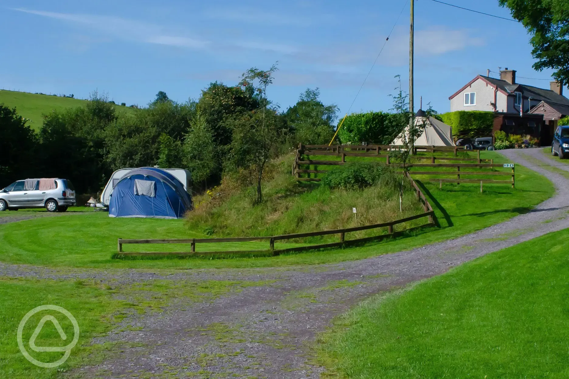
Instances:
[[[18,180],[0,190],[0,211],[46,207],[48,212],[65,212],[73,205],[75,188],[67,179]]]

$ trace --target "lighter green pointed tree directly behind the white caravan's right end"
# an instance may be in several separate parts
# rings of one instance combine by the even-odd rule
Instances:
[[[207,180],[216,169],[215,143],[213,134],[205,122],[205,117],[198,113],[192,122],[192,128],[185,136],[183,165],[192,173],[194,184],[200,185]]]

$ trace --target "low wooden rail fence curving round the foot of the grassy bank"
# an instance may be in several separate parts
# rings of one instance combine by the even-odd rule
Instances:
[[[423,213],[409,216],[406,218],[393,220],[389,222],[379,223],[379,224],[371,224],[371,225],[363,225],[363,226],[355,226],[351,228],[343,228],[343,229],[335,229],[335,230],[324,230],[324,231],[316,231],[316,232],[306,232],[306,233],[295,233],[295,234],[285,234],[285,235],[278,235],[278,236],[268,236],[268,237],[240,237],[240,238],[191,238],[191,239],[118,239],[117,243],[117,255],[116,257],[125,257],[125,256],[196,256],[196,255],[242,255],[242,254],[251,254],[251,253],[267,253],[269,255],[280,255],[281,253],[286,252],[294,252],[294,251],[306,251],[306,250],[315,250],[321,248],[332,248],[332,247],[344,247],[354,244],[365,243],[367,241],[373,240],[381,240],[385,238],[389,238],[391,236],[401,234],[403,231],[394,232],[393,227],[398,224],[402,224],[405,222],[409,222],[411,220],[416,220],[420,218],[428,218],[428,222],[423,224],[422,226],[432,226],[434,225],[434,215],[435,212],[432,209],[431,204],[428,202],[427,198],[424,196],[423,192],[420,190],[419,186],[415,183],[415,181],[407,174],[417,197],[419,198],[420,202],[423,204]],[[377,229],[377,228],[387,228],[387,234],[381,234],[372,237],[366,238],[357,238],[346,240],[345,235],[350,232],[357,232],[361,230],[370,230],[370,229]],[[324,236],[324,235],[331,235],[337,234],[339,235],[339,241],[333,243],[325,243],[325,244],[317,244],[317,245],[307,245],[301,247],[292,247],[286,249],[275,249],[275,241],[283,241],[283,240],[290,240],[290,239],[297,239],[297,238],[307,238],[307,237],[315,237],[315,236]],[[196,244],[200,243],[227,243],[227,242],[248,242],[248,241],[269,241],[269,249],[268,250],[238,250],[238,251],[196,251]],[[122,251],[122,245],[125,244],[163,244],[163,243],[175,243],[175,244],[190,244],[190,251],[189,252],[125,252]]]

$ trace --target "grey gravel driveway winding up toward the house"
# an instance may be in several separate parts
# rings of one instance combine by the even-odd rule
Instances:
[[[535,164],[562,164],[541,149],[502,152],[545,175],[554,197],[527,214],[454,240],[370,259],[279,269],[76,270],[0,264],[0,276],[97,278],[115,284],[172,281],[263,281],[211,301],[172,302],[161,313],[133,315],[99,341],[119,341],[120,354],[71,372],[80,377],[319,377],[311,360],[315,335],[331,319],[380,291],[446,272],[450,267],[569,227],[569,180]],[[532,161],[526,160],[533,157]],[[562,169],[569,171],[569,166]],[[125,327],[130,325],[130,328]],[[128,330],[130,329],[130,330]]]

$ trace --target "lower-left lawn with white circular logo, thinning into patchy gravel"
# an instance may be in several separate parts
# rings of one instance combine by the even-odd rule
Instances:
[[[162,311],[176,301],[211,301],[229,292],[266,284],[266,281],[215,280],[146,280],[131,284],[0,278],[0,378],[60,378],[59,371],[91,365],[102,361],[105,356],[119,354],[119,343],[93,344],[92,339],[108,334],[117,322],[130,314]],[[17,342],[17,330],[23,316],[35,307],[47,304],[68,310],[77,320],[80,330],[79,341],[69,359],[57,368],[39,368],[30,363],[20,353]],[[40,319],[46,315],[55,316],[67,338],[62,340],[54,324],[46,322],[36,339],[38,347],[67,345],[73,339],[74,331],[69,319],[56,311],[40,311],[26,322],[22,333],[24,347],[35,359],[49,363],[59,360],[63,352],[34,352],[28,343]],[[126,322],[121,330],[127,329],[137,330],[137,327]],[[130,345],[145,348],[143,343]]]

